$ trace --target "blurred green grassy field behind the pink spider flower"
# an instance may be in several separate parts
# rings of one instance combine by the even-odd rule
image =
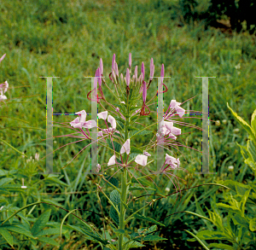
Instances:
[[[102,58],[104,76],[111,85],[108,74],[111,72],[113,53],[116,55],[119,73],[125,74],[128,55],[131,52],[132,68],[138,65],[140,69],[144,61],[147,77],[151,57],[154,59],[155,76],[160,76],[160,67],[164,63],[165,76],[172,77],[165,79],[169,89],[164,95],[165,110],[172,99],[184,102],[196,96],[186,102],[183,108],[201,111],[201,79],[195,76],[216,77],[209,80],[209,112],[212,120],[210,172],[217,172],[217,175],[195,175],[194,172],[201,171],[201,153],[180,148],[186,158],[184,159],[182,154],[177,155],[180,155],[183,167],[191,173],[177,173],[179,177],[184,178],[181,188],[188,183],[195,186],[195,183],[214,183],[227,178],[243,183],[247,179],[253,179],[253,172],[244,164],[240,149],[236,145],[236,142],[245,145],[247,134],[233,119],[226,104],[228,102],[236,113],[247,122],[250,121],[256,100],[256,38],[248,32],[229,34],[213,27],[205,30],[204,25],[199,22],[194,25],[183,24],[178,9],[174,8],[175,3],[146,0],[3,2],[0,7],[0,20],[3,24],[0,29],[0,56],[6,53],[6,57],[1,62],[0,78],[2,82],[9,82],[9,90],[5,94],[8,97],[6,105],[1,103],[0,106],[1,138],[20,152],[25,152],[28,157],[39,153],[40,158],[43,158],[43,139],[46,135],[46,80],[39,77],[59,77],[53,80],[54,113],[75,113],[82,109],[90,113],[90,101],[86,97],[90,91],[90,80],[84,77],[95,74]],[[155,80],[150,86],[148,100],[150,96],[154,96],[156,84]],[[110,100],[108,102],[114,102],[111,93],[108,90],[103,91]],[[152,107],[150,118],[145,119],[145,123],[156,119],[156,105]],[[102,110],[99,106],[100,111]],[[54,116],[55,122],[70,122],[73,119],[73,116]],[[201,126],[200,119],[180,120]],[[216,123],[217,120],[220,122]],[[236,131],[236,128],[239,131]],[[201,150],[201,131],[191,128],[182,128],[182,131],[186,134],[178,139],[179,142]],[[71,131],[67,129],[54,128],[54,136],[69,132]],[[55,138],[54,148],[69,142],[74,142],[74,139]],[[148,137],[137,140],[140,146],[147,142]],[[20,154],[2,142],[0,170],[16,170],[9,172],[9,177],[13,177],[12,183],[21,185],[21,177],[24,177],[26,186],[31,186],[32,189],[24,192],[14,191],[12,195],[6,195],[0,201],[0,206],[12,204],[21,207],[41,200],[55,202],[67,210],[79,207],[100,213],[96,195],[93,194],[95,187],[92,183],[96,177],[91,177],[92,181],[88,181],[83,174],[90,167],[89,149],[79,154],[65,169],[61,169],[79,153],[83,145],[83,142],[71,144],[54,154],[55,172],[61,172],[61,181],[70,184],[65,187],[61,183],[40,185],[38,180],[42,180],[42,176],[36,172],[40,167],[44,168],[45,159],[28,167]],[[108,162],[110,155],[105,151],[101,152],[99,162]],[[228,166],[234,166],[234,172],[229,172]],[[31,175],[34,172],[32,178],[26,177],[29,171]],[[165,194],[166,187],[174,190],[172,183],[167,179],[162,180],[159,185],[162,194]],[[166,201],[160,201],[144,211],[145,215],[157,220],[163,215],[189,208],[189,211],[195,212],[195,199],[200,195],[203,197],[201,204],[210,208],[214,200],[207,196],[210,189],[212,188],[201,187],[190,191],[187,194],[188,200],[176,207],[173,206],[175,197],[169,196]],[[51,194],[40,195],[42,193]],[[221,189],[214,189],[214,195],[217,201],[221,199]],[[106,208],[108,202],[102,199],[102,206]],[[143,201],[136,206],[143,206]],[[37,218],[49,208],[50,206],[41,204],[31,212],[31,216]],[[107,208],[105,210],[105,213],[108,212]],[[66,213],[53,209],[50,221],[61,222]],[[102,227],[102,222],[96,215],[83,211],[78,214],[98,228]],[[0,216],[3,217],[1,220],[7,218],[4,213]],[[66,223],[75,225],[78,221],[74,217],[68,217]],[[133,226],[137,224],[138,222],[132,221]],[[147,247],[142,249],[171,249],[170,246],[173,249],[202,249],[199,243],[186,241],[190,235],[183,229],[193,231],[193,228],[194,232],[197,232],[206,228],[207,224],[203,220],[192,219],[179,213],[175,217],[168,217],[165,224],[168,226],[161,233],[168,241],[148,243]],[[52,248],[53,246],[39,242],[38,248],[19,249],[97,249],[96,244],[86,241],[80,234],[73,233],[70,239],[63,237],[62,241],[61,248]],[[28,241],[25,241],[23,247],[25,246],[30,246]]]

